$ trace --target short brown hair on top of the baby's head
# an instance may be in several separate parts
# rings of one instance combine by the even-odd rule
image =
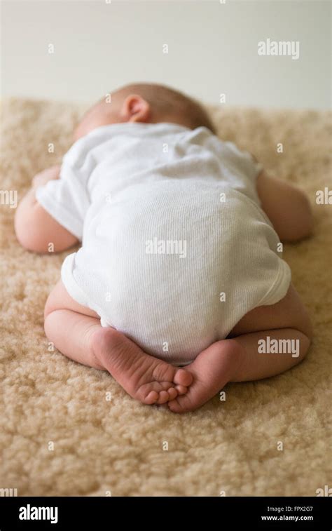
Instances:
[[[179,90],[157,83],[132,83],[118,88],[113,94],[127,96],[134,93],[141,95],[151,105],[155,105],[160,114],[167,115],[171,112],[175,116],[183,116],[191,129],[205,126],[216,134],[214,124],[200,102]]]

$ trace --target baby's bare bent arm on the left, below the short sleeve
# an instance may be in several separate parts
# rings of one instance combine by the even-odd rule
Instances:
[[[18,241],[22,247],[35,253],[48,253],[50,243],[53,243],[55,252],[60,252],[78,242],[76,236],[64,229],[36,201],[36,189],[51,179],[57,179],[59,173],[60,166],[53,166],[38,173],[32,181],[32,188],[20,201],[15,213],[15,233]]]

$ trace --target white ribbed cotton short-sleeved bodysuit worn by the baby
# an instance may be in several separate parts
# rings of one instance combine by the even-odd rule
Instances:
[[[36,199],[82,246],[62,281],[144,351],[186,365],[291,271],[261,209],[261,165],[209,129],[114,123],[81,138]]]

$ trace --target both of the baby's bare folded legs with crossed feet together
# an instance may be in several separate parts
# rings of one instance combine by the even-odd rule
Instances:
[[[310,319],[293,286],[277,304],[246,314],[226,340],[202,351],[185,369],[145,354],[113,328],[102,328],[97,314],[74,301],[62,281],[46,302],[45,331],[65,356],[108,370],[133,398],[167,403],[174,412],[200,407],[228,382],[284,372],[303,359],[312,337]]]

